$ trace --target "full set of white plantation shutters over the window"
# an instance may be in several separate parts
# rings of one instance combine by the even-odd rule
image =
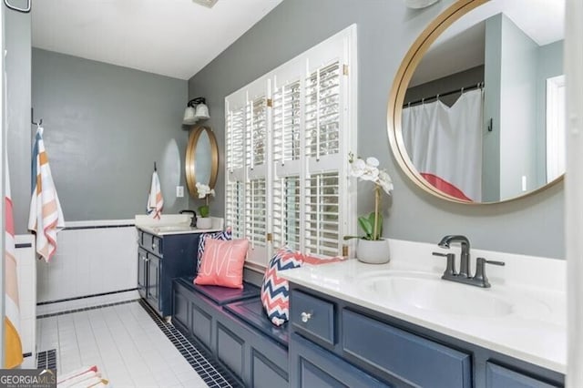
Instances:
[[[236,178],[226,184],[225,206],[230,224],[244,219],[237,225],[253,264],[265,267],[284,244],[340,255],[343,236],[354,234],[347,158],[355,151],[355,42],[355,26],[348,27],[225,99],[226,107],[240,107],[245,96],[243,113],[225,109],[227,139],[239,140],[225,148]],[[230,158],[237,168],[243,159],[234,168],[240,173],[229,172]]]

